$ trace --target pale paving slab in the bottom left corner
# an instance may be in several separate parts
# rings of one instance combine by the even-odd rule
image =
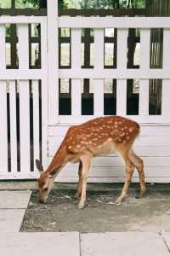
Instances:
[[[1,255],[80,256],[79,233],[0,233]]]

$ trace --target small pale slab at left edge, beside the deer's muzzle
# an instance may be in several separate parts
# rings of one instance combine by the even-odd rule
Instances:
[[[26,209],[31,191],[0,191],[0,209]]]

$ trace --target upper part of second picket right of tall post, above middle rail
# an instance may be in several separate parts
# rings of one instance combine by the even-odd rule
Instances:
[[[104,68],[104,29],[94,30],[94,69]]]

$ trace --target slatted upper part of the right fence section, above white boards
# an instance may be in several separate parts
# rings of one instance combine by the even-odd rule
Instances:
[[[54,91],[54,104],[51,105],[50,124],[80,123],[86,119],[100,116],[104,113],[105,79],[116,79],[116,114],[128,116],[127,113],[127,80],[139,80],[139,113],[129,117],[140,123],[169,123],[170,110],[167,102],[170,94],[170,18],[154,17],[59,17],[59,28],[69,28],[71,37],[71,66],[55,69],[56,78],[71,80],[71,114],[59,114],[56,102],[59,95]],[[82,28],[92,28],[94,31],[94,67],[82,68]],[[116,29],[116,67],[105,67],[105,29]],[[140,56],[139,68],[127,68],[128,33],[130,28],[139,28]],[[163,29],[162,68],[150,67],[150,47],[158,50],[161,43],[151,41],[151,29]],[[151,45],[151,46],[150,46]],[[86,52],[85,52],[86,54]],[[94,83],[94,114],[82,115],[83,79],[93,80]],[[150,115],[150,83],[161,79],[161,113]],[[57,83],[56,83],[57,84]],[[58,85],[56,85],[58,86]],[[156,90],[157,91],[157,90]],[[55,101],[54,101],[55,96]],[[62,96],[62,95],[61,95]]]

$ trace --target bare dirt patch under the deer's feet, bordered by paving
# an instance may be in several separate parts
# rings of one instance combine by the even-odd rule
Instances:
[[[86,207],[79,210],[75,190],[53,190],[46,205],[33,191],[20,231],[170,231],[170,192],[150,191],[144,199],[130,192],[122,205],[119,192],[88,191]]]

